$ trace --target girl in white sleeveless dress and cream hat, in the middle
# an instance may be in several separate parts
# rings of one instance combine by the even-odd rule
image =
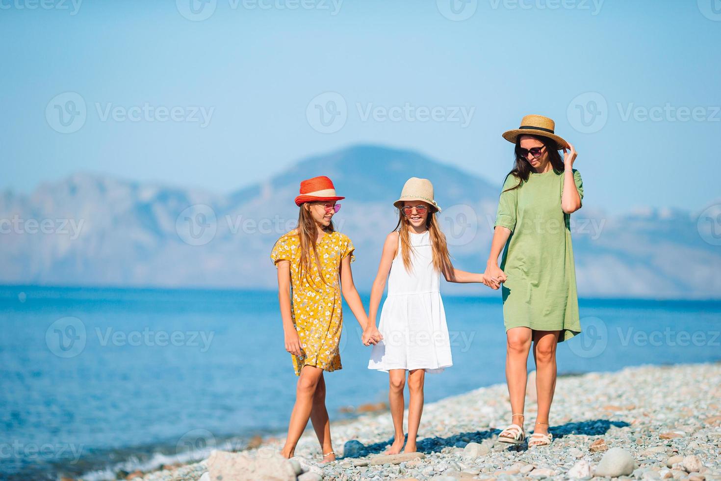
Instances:
[[[446,237],[435,218],[441,208],[433,199],[429,180],[410,178],[393,205],[399,209],[398,225],[386,237],[368,314],[368,325],[375,325],[387,278],[388,296],[378,327],[382,338],[373,346],[368,362],[368,369],[389,374],[395,439],[387,454],[403,449],[406,371],[410,402],[404,451],[410,453],[416,451],[425,373],[441,372],[453,365],[446,312],[438,289],[441,273],[448,282],[483,282],[482,274],[457,270],[451,264]]]

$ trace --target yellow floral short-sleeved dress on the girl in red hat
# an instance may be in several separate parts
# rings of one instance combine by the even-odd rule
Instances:
[[[340,365],[340,332],[342,330],[342,298],[340,294],[340,262],[350,255],[355,260],[353,242],[340,232],[328,232],[317,243],[321,281],[314,257],[311,272],[300,276],[301,240],[295,230],[283,234],[270,253],[277,265],[280,260],[291,262],[291,316],[298,331],[303,356],[293,356],[293,369],[301,375],[303,366],[317,366],[324,371],[342,369]]]

